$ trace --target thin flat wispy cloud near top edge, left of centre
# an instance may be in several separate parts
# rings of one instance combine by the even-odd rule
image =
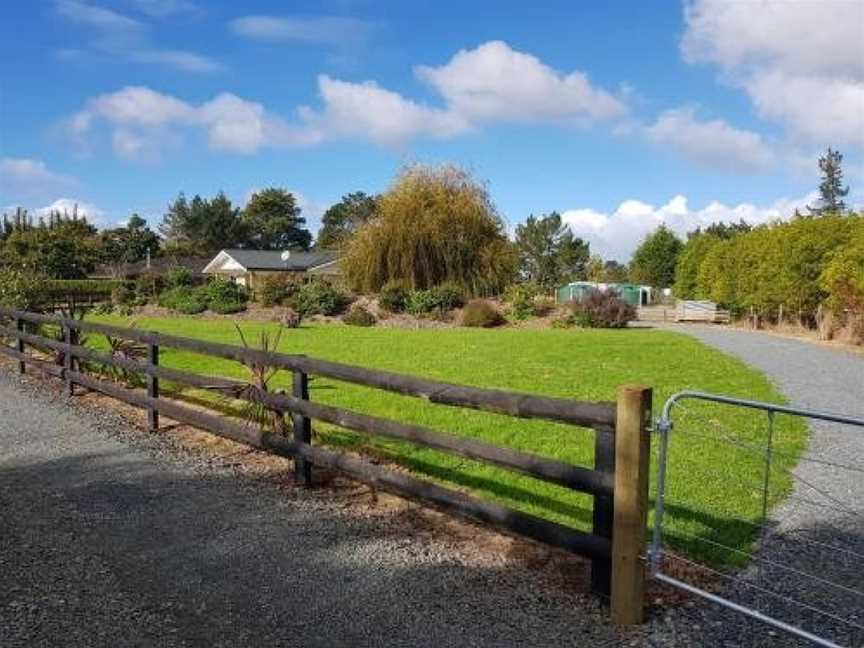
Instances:
[[[330,16],[244,16],[230,21],[228,26],[235,34],[255,40],[324,43],[334,47],[362,45],[372,29],[363,20]]]

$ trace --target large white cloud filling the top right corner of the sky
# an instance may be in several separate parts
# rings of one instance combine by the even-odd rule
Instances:
[[[864,4],[695,0],[685,60],[717,64],[760,116],[808,142],[864,147]]]

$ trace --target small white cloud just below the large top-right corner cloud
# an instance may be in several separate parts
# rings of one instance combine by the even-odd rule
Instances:
[[[700,121],[693,108],[662,113],[644,129],[656,144],[668,147],[697,164],[721,171],[758,171],[774,162],[762,136],[714,119]]]

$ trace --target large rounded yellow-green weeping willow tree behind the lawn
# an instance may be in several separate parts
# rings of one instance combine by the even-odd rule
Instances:
[[[342,260],[345,276],[362,292],[393,280],[416,289],[452,281],[471,294],[492,295],[512,281],[517,265],[486,187],[450,165],[404,168]]]

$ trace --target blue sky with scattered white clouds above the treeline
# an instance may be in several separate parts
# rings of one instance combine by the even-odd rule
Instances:
[[[155,224],[181,190],[275,185],[314,229],[455,162],[511,225],[557,210],[626,259],[660,223],[787,216],[829,144],[862,202],[864,3],[540,4],[9,3],[0,207]]]

